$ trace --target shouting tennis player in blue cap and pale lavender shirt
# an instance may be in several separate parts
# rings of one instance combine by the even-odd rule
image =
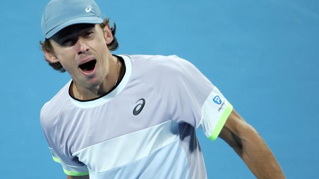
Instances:
[[[41,25],[46,60],[72,78],[40,114],[68,179],[206,179],[196,128],[226,141],[258,179],[285,178],[261,136],[192,64],[111,54],[116,26],[93,0],[52,0]]]

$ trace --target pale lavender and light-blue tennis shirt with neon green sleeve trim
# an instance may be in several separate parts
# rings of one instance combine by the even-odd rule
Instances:
[[[206,179],[195,129],[214,140],[232,105],[177,56],[117,57],[126,71],[108,94],[76,100],[70,81],[43,106],[53,160],[90,179]]]

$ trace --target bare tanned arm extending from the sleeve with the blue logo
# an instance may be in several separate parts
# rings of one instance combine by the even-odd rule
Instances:
[[[234,149],[258,179],[285,179],[265,141],[235,110],[218,136]]]

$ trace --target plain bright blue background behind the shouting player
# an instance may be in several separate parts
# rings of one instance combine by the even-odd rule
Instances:
[[[62,179],[39,124],[70,79],[43,60],[48,1],[1,0],[0,174]],[[287,178],[319,178],[318,0],[97,0],[116,54],[176,54],[198,67],[263,136]],[[209,179],[253,179],[221,139],[197,131]]]

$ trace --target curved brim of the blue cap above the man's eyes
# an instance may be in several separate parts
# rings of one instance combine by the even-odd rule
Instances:
[[[69,25],[78,24],[78,23],[102,23],[102,22],[103,22],[103,19],[97,16],[88,16],[88,17],[72,19],[70,21],[64,22],[54,27],[51,31],[49,31],[46,34],[46,39],[51,38],[58,31],[62,30],[64,27],[67,27]]]

